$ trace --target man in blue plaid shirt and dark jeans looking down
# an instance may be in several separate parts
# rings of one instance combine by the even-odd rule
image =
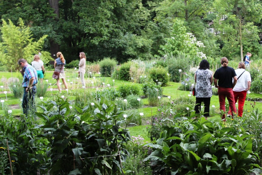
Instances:
[[[24,88],[22,108],[23,113],[27,116],[29,106],[34,107],[35,103],[37,72],[36,69],[23,58],[18,60],[18,64],[22,68],[20,73],[24,77],[22,82],[22,87]]]

